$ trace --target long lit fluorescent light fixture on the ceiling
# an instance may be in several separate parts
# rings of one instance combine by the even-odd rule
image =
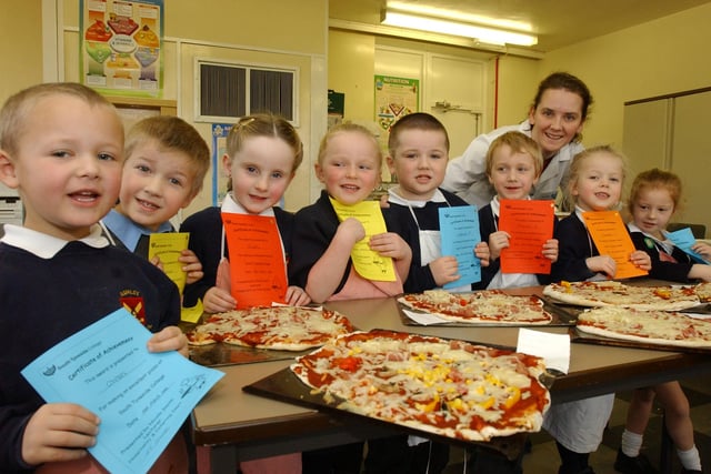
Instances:
[[[431,31],[435,33],[453,34],[457,37],[472,38],[490,44],[520,44],[533,46],[538,43],[538,37],[495,28],[480,27],[472,23],[441,20],[432,17],[400,13],[385,10],[381,20],[382,24],[390,27],[409,28],[412,30]]]

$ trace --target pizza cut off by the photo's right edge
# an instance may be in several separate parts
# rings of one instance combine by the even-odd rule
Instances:
[[[711,349],[711,321],[684,313],[594,307],[580,313],[577,329],[623,341]]]

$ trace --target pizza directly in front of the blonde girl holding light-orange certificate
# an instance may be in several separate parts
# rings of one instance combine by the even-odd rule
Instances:
[[[677,311],[695,306],[699,296],[692,288],[631,286],[615,281],[551,283],[543,294],[579,306],[624,306],[638,310]]]

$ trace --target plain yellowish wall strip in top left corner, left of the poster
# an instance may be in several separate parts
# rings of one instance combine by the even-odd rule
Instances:
[[[38,28],[42,24],[41,1],[26,0],[22,8],[16,8],[16,4],[2,0],[0,103],[21,89],[42,82],[42,31]],[[8,13],[10,8],[11,14]]]

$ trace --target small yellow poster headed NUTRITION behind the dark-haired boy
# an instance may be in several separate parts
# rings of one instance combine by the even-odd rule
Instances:
[[[418,79],[375,75],[375,121],[382,130],[390,130],[399,118],[419,110]]]

